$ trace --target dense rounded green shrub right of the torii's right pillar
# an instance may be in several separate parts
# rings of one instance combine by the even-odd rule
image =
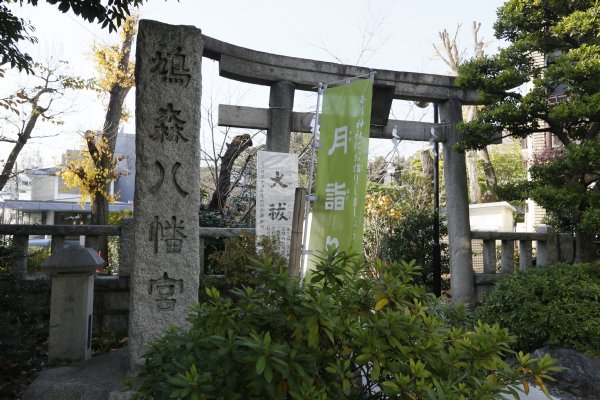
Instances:
[[[475,311],[534,350],[565,346],[600,356],[600,263],[555,264],[505,275]]]

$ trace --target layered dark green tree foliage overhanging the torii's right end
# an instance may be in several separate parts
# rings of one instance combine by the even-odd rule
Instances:
[[[598,229],[600,173],[592,158],[600,148],[598,12],[600,4],[592,1],[507,1],[494,27],[508,46],[465,63],[457,78],[480,90],[485,104],[476,120],[459,127],[463,148],[485,145],[492,127],[518,138],[549,132],[566,147],[532,168],[531,185],[513,189],[525,190],[521,197],[530,196],[573,230]]]

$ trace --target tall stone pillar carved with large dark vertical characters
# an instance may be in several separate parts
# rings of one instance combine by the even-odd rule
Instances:
[[[142,20],[136,53],[135,252],[130,364],[171,325],[185,325],[200,274],[199,29]]]

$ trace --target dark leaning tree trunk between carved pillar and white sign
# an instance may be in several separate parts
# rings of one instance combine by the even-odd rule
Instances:
[[[231,185],[231,170],[235,160],[242,154],[244,150],[252,146],[250,135],[243,134],[233,138],[230,144],[227,145],[227,151],[221,157],[221,166],[219,168],[219,177],[217,179],[216,189],[213,192],[208,209],[218,211],[223,214],[225,203],[229,195],[229,187]]]

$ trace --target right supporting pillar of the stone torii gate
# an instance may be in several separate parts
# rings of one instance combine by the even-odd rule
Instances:
[[[440,122],[455,124],[462,121],[458,100],[440,103]],[[446,184],[446,210],[448,215],[448,245],[450,250],[450,287],[454,303],[475,303],[473,259],[471,255],[471,227],[469,225],[469,196],[465,153],[452,146],[459,134],[449,130],[444,141],[444,179]]]

